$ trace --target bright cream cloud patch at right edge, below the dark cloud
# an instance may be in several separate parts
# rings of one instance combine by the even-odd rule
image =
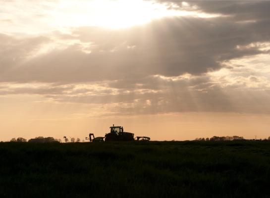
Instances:
[[[237,49],[258,47],[260,50],[268,49],[269,43],[252,43],[247,46],[238,46]],[[223,62],[227,65],[217,71],[209,72],[213,83],[222,88],[269,90],[270,69],[269,54],[257,54],[231,59]]]

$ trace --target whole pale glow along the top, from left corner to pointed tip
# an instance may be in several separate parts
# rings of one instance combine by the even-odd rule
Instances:
[[[1,2],[0,24],[2,33],[21,32],[16,34],[19,38],[25,33],[70,33],[71,28],[82,26],[129,28],[170,16],[212,18],[223,15],[204,13],[188,2],[179,6],[154,0],[46,0],[37,3],[18,0]]]

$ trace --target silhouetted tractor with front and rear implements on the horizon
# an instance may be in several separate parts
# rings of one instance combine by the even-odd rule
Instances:
[[[104,142],[104,141],[134,141],[134,134],[129,132],[124,132],[123,127],[114,126],[109,127],[110,132],[105,134],[105,137],[95,138],[93,133],[89,134],[89,138],[85,138],[90,142]],[[149,137],[140,136],[136,137],[136,141],[150,141]]]

